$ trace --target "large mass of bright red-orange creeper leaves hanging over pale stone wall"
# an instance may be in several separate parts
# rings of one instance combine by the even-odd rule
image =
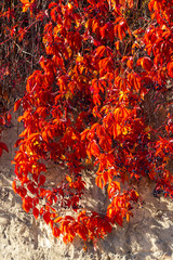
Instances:
[[[24,12],[35,3],[21,2]],[[150,89],[163,93],[173,78],[172,6],[170,1],[151,0],[148,8],[146,30],[134,30],[127,17],[127,10],[136,10],[132,0],[49,4],[46,57],[40,57],[41,70],[28,77],[26,94],[14,106],[16,110],[23,105],[18,121],[25,130],[16,143],[13,188],[23,208],[32,210],[36,219],[42,216],[65,243],[76,235],[103,238],[115,223],[129,221],[132,203],[138,199],[132,180],[148,177],[156,181],[156,192],[173,196],[168,169],[173,155],[171,115],[164,136],[157,139],[141,106]],[[44,185],[43,160],[68,167],[54,188]],[[110,199],[104,216],[81,209],[82,172],[91,164],[96,185],[107,187]],[[77,218],[61,214],[63,207],[75,210]]]

